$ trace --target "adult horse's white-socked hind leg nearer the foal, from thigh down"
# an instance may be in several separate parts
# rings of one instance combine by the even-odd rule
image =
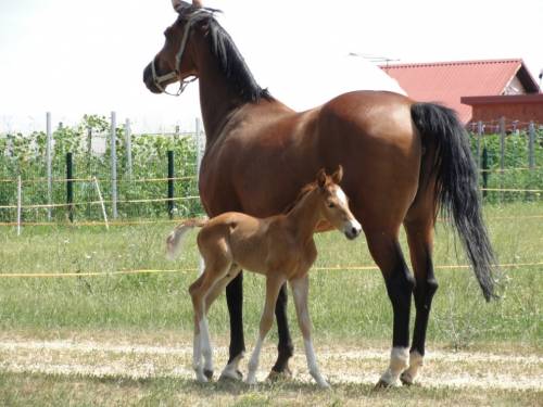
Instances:
[[[394,325],[389,368],[377,386],[396,385],[400,374],[407,368],[409,358],[409,310],[414,281],[405,264],[397,232],[366,233],[368,247],[381,269],[387,292],[392,303]]]

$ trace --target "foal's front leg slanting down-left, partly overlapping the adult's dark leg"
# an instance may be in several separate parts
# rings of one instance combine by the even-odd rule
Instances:
[[[256,369],[258,369],[262,344],[264,343],[264,339],[274,323],[275,304],[277,302],[279,290],[283,283],[285,278],[277,275],[272,275],[266,278],[266,303],[264,305],[264,311],[262,313],[258,339],[256,340],[256,345],[254,346],[251,360],[249,361],[249,372],[247,374],[247,382],[249,384],[256,383]]]

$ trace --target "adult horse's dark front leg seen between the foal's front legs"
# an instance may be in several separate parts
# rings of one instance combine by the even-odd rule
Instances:
[[[277,346],[278,355],[272,371],[269,372],[268,380],[276,380],[281,377],[290,378],[292,376],[289,369],[289,359],[294,353],[292,339],[290,336],[289,320],[287,318],[287,283],[283,283],[277,297],[275,306],[275,317],[277,320],[277,331],[279,334],[279,344]]]

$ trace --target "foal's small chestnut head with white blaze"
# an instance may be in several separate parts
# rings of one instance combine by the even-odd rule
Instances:
[[[343,178],[341,165],[331,176],[325,169],[317,174],[317,187],[321,198],[320,213],[336,229],[350,240],[361,234],[362,226],[349,208],[349,199],[339,186]]]

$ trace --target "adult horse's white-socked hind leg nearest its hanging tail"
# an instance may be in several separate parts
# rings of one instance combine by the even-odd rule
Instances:
[[[431,212],[428,212],[431,214]],[[433,275],[433,218],[426,221],[405,222],[411,259],[415,272],[415,329],[409,352],[409,367],[401,380],[404,384],[413,384],[425,356],[426,330],[432,304],[433,294],[438,290],[438,281]]]

